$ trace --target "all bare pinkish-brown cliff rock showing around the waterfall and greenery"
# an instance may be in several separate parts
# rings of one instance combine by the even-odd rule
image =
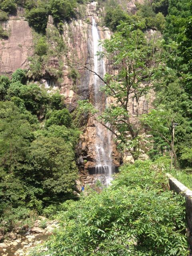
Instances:
[[[120,4],[128,12],[135,13],[135,2],[142,3],[143,0],[131,0],[122,1]],[[55,86],[60,89],[61,94],[65,96],[66,105],[70,111],[76,108],[77,100],[93,99],[93,84],[94,75],[83,67],[82,64],[88,64],[90,69],[93,70],[94,66],[94,53],[93,53],[93,38],[92,38],[92,16],[96,20],[97,24],[101,24],[100,14],[103,13],[103,9],[98,10],[97,3],[91,2],[87,4],[82,18],[78,20],[72,20],[71,22],[65,22],[63,24],[62,38],[68,47],[68,57],[62,57],[64,62],[62,83],[56,84],[52,78],[52,74],[44,74],[41,83],[44,83],[46,87]],[[10,16],[10,20],[3,24],[4,28],[9,31],[9,38],[7,40],[1,40],[0,44],[0,74],[12,74],[17,68],[28,69],[28,56],[33,54],[33,36],[32,29],[28,26],[28,22],[24,20],[23,10],[18,10],[17,16]],[[50,31],[54,29],[54,22],[50,16],[48,19],[48,28]],[[100,38],[110,38],[110,31],[108,28],[99,27]],[[148,36],[153,34],[152,31],[148,31]],[[54,47],[54,42],[52,42]],[[69,61],[72,60],[72,62]],[[79,63],[78,63],[79,62]],[[58,58],[50,60],[51,67],[57,68],[59,66]],[[78,70],[78,77],[76,82],[70,78],[70,70],[72,68]],[[109,71],[110,67],[106,62],[106,70]],[[49,81],[46,79],[49,77]],[[50,86],[51,87],[51,86]],[[141,98],[139,102],[140,113],[145,113],[150,107],[151,100]],[[130,97],[130,113],[134,118],[135,114],[135,102]],[[96,154],[94,148],[94,141],[96,139],[96,127],[92,120],[88,120],[88,124],[84,130],[81,141],[78,145],[78,166],[84,179],[84,183],[93,183],[96,177],[88,176],[88,170],[95,165]],[[146,157],[145,150],[143,150],[143,156]],[[112,156],[114,166],[119,166],[121,159],[124,162],[132,161],[132,157],[129,153],[121,156],[116,150],[116,145],[112,145]]]

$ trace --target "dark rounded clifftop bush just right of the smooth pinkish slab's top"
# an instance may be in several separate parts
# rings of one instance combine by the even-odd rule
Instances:
[[[45,32],[48,16],[44,8],[33,8],[26,14],[29,25],[32,26],[36,32]]]

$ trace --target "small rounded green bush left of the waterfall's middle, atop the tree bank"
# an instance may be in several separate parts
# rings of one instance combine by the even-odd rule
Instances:
[[[46,126],[49,127],[53,124],[70,127],[72,124],[72,118],[68,109],[63,108],[62,110],[48,112],[46,115]]]

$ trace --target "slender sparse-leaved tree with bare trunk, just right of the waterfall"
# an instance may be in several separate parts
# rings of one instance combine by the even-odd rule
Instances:
[[[162,51],[154,52],[154,45],[148,45],[144,33],[125,23],[122,30],[112,35],[110,40],[104,40],[103,52],[100,57],[107,58],[114,66],[114,74],[106,74],[102,79],[102,91],[106,97],[112,97],[114,103],[108,105],[104,112],[94,109],[92,104],[82,102],[85,111],[92,118],[110,129],[122,147],[133,148],[134,158],[138,157],[140,124],[138,117],[140,98],[151,90],[151,83],[160,76]],[[130,98],[135,100],[134,121],[130,118],[132,110],[129,107]],[[127,133],[131,139],[128,139]]]

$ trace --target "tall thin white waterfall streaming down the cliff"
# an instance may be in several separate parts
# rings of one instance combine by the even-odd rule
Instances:
[[[105,62],[99,59],[97,52],[102,51],[102,46],[99,45],[100,36],[94,18],[92,17],[92,38],[93,38],[93,53],[94,53],[94,72],[100,77],[104,77],[106,72]],[[94,75],[94,106],[96,109],[103,111],[107,105],[105,95],[100,91],[103,82]],[[106,183],[110,184],[112,180],[112,133],[98,122],[96,125],[96,174],[105,174]]]

